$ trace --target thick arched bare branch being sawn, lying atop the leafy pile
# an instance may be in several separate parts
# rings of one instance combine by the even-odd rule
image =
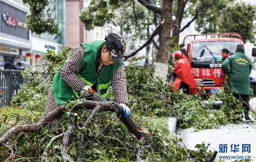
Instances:
[[[119,118],[122,121],[122,123],[127,127],[127,129],[132,134],[134,134],[139,139],[141,137],[145,137],[145,139],[150,137],[150,133],[144,131],[140,126],[136,125],[131,117],[125,118],[122,107],[115,102],[97,102],[92,100],[81,100],[77,102],[73,110],[84,109],[84,107],[86,107],[87,109],[94,109],[96,106],[100,106],[101,111],[115,112],[115,110],[112,109],[112,105],[118,109],[117,118]],[[61,115],[64,114],[63,110],[65,110],[65,105],[58,107],[58,109],[40,118],[40,120],[36,124],[15,125],[11,127],[8,131],[5,132],[5,134],[2,137],[0,137],[0,146],[3,145],[3,143],[6,143],[16,133],[39,131],[39,129],[42,126],[47,125],[47,123],[52,122],[54,121],[54,119],[61,117]]]

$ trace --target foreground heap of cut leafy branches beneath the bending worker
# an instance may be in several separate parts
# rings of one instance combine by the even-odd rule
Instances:
[[[112,106],[118,109],[117,113]],[[182,151],[187,149],[175,144],[180,141],[178,136],[167,137],[151,124],[149,118],[155,118],[154,115],[142,119],[139,112],[132,115],[134,113],[137,114],[134,120],[123,117],[121,106],[115,102],[73,101],[43,116],[35,124],[14,125],[5,133],[2,131],[0,161],[190,159],[189,151]],[[56,119],[58,128],[53,129]]]

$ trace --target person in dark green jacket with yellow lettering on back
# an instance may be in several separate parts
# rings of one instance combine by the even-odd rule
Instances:
[[[251,61],[249,57],[244,54],[244,47],[242,44],[237,45],[236,53],[229,56],[224,62],[222,62],[223,73],[228,73],[228,66],[230,66],[229,72],[229,87],[234,91],[234,96],[239,99],[241,96],[244,100],[243,106],[246,107],[244,116],[246,120],[250,120],[248,116],[249,108],[249,94],[250,94],[250,79],[251,73]]]

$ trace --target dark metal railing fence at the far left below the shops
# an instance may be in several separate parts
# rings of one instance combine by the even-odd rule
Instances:
[[[0,70],[0,106],[8,106],[12,97],[20,93],[20,87],[27,83],[20,70]],[[46,78],[48,74],[42,74]]]

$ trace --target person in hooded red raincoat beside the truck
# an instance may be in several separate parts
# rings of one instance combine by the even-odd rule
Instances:
[[[173,75],[176,76],[176,79],[172,87],[183,89],[184,93],[189,93],[189,87],[195,88],[197,84],[191,74],[188,59],[181,51],[175,51],[174,55],[177,62]]]

